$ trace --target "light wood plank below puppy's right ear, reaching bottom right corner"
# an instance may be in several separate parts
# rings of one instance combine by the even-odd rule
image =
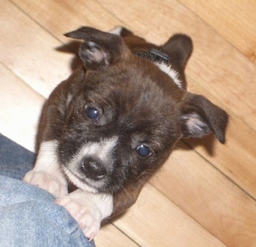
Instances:
[[[256,244],[255,200],[186,145],[151,182],[227,246]]]

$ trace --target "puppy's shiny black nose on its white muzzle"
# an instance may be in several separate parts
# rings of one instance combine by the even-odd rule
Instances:
[[[91,178],[93,180],[102,179],[107,173],[107,170],[103,164],[91,157],[86,157],[83,159],[81,171],[86,175],[87,178]]]

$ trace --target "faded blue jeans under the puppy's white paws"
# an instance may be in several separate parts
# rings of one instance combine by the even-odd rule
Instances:
[[[48,191],[21,180],[34,158],[0,134],[0,245],[94,246]]]

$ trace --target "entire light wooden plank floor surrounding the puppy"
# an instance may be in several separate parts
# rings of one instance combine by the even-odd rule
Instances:
[[[97,246],[256,246],[255,0],[1,0],[0,132],[33,151],[42,103],[74,69],[62,34],[117,25],[157,44],[191,36],[189,90],[231,121],[226,145],[179,143]]]

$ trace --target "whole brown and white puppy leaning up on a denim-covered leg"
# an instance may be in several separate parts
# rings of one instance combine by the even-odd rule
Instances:
[[[161,46],[122,27],[65,35],[83,39],[83,65],[45,103],[37,161],[24,180],[52,193],[91,240],[102,220],[135,203],[178,140],[213,133],[224,143],[228,116],[187,92],[186,35]]]

